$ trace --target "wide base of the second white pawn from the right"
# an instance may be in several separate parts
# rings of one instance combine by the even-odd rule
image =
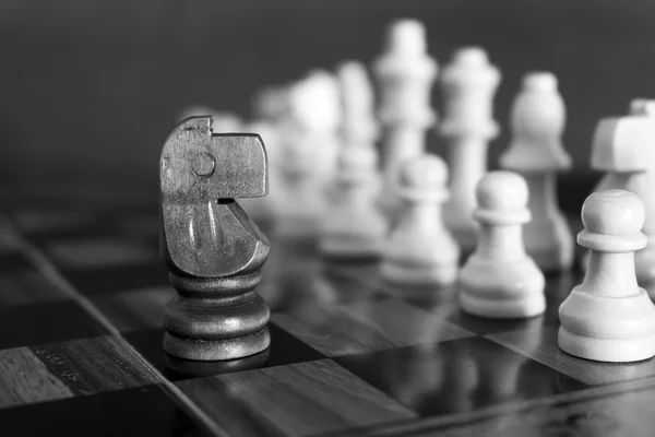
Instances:
[[[531,258],[508,263],[472,256],[460,273],[464,311],[493,319],[535,317],[546,310],[546,281]]]

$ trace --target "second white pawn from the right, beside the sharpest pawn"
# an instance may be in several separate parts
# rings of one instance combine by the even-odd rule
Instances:
[[[460,272],[462,309],[499,319],[544,312],[544,273],[523,246],[522,225],[531,220],[527,184],[515,173],[490,172],[476,194],[480,231],[477,248]]]

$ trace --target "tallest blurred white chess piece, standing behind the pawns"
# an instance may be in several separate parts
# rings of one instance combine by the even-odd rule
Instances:
[[[437,120],[430,107],[438,67],[427,54],[426,31],[415,20],[400,20],[389,28],[385,52],[374,62],[380,90],[378,118],[383,128],[383,197],[390,216],[401,204],[396,187],[403,163],[425,153],[426,133]]]

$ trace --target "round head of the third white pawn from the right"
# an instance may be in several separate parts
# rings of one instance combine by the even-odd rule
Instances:
[[[405,198],[445,200],[446,182],[448,166],[437,155],[413,157],[405,161],[398,172],[398,188]]]

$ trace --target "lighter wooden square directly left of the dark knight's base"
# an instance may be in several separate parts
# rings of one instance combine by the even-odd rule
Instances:
[[[92,302],[122,332],[160,328],[164,308],[176,295],[170,285],[93,295]]]

